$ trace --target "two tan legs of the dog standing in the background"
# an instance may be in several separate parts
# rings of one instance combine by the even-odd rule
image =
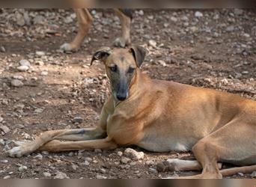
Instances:
[[[125,47],[130,44],[130,23],[132,20],[132,13],[125,8],[115,8],[115,13],[121,21],[121,30],[122,36],[118,37],[114,41],[115,46]],[[87,8],[75,8],[76,17],[78,20],[79,29],[76,34],[76,37],[73,39],[71,43],[64,43],[61,46],[66,52],[76,51],[81,46],[84,41],[86,35],[88,34],[89,29],[91,28],[91,24],[93,21],[93,17],[91,16],[89,10]]]

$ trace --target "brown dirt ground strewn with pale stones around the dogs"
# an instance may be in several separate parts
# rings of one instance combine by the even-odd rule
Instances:
[[[256,100],[255,10],[132,10],[132,43],[147,47],[142,69],[173,80]],[[163,178],[195,172],[158,172],[156,163],[192,153],[117,150],[32,153],[9,158],[12,140],[32,140],[49,129],[91,127],[109,95],[103,64],[92,53],[121,34],[112,10],[91,10],[94,24],[79,52],[63,53],[76,35],[72,10],[0,9],[0,177]],[[136,153],[135,152],[135,153]],[[136,153],[137,154],[137,153]],[[225,168],[230,165],[224,165]],[[237,174],[232,178],[252,178]]]

